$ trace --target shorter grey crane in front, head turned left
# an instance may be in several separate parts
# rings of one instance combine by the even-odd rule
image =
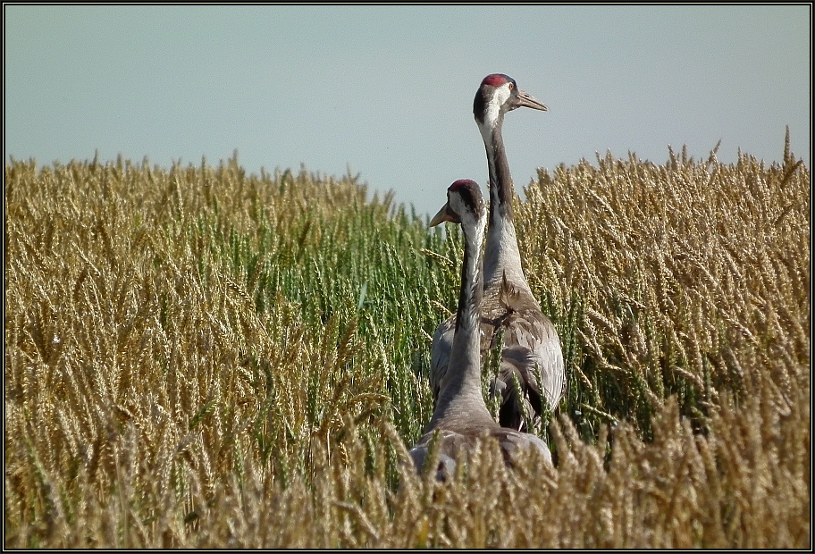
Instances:
[[[539,437],[501,427],[495,422],[483,399],[481,386],[481,302],[483,298],[483,244],[486,207],[481,188],[474,180],[457,180],[450,185],[447,203],[429,223],[460,223],[465,239],[461,264],[461,290],[455,333],[447,372],[440,382],[439,396],[423,435],[410,449],[416,471],[424,467],[428,454],[438,449],[436,478],[443,481],[455,474],[462,456],[479,440],[497,440],[505,463],[512,466],[520,449],[534,449],[551,464],[547,444]]]

